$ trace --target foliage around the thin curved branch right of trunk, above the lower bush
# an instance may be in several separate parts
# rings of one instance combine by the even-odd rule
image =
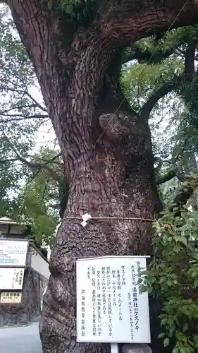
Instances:
[[[177,174],[159,187],[165,203],[173,201],[180,188],[179,174],[189,174],[194,169],[197,172],[197,52],[195,72],[192,78],[185,78],[187,48],[194,41],[197,26],[171,30],[161,39],[142,39],[135,43],[132,54],[137,61],[125,64],[122,72],[125,95],[136,112],[141,112],[144,103],[163,85],[182,77],[175,91],[161,97],[149,114],[156,178],[172,169]],[[192,67],[193,57],[191,60]]]

